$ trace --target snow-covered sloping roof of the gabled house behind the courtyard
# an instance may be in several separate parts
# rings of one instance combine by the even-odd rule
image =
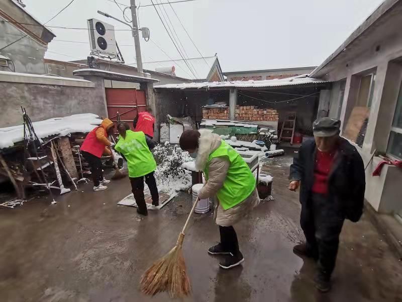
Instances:
[[[170,61],[159,61],[159,62],[148,62],[143,63],[144,69],[157,71],[156,68],[167,67],[171,68],[175,67],[174,73],[176,77],[184,78],[184,79],[199,79],[205,80],[208,78],[208,74],[214,66],[217,57],[205,57],[205,58],[191,58],[186,59],[185,61],[191,67],[192,70],[195,70],[194,73],[196,77],[191,73],[190,69],[188,69],[184,60],[170,60]]]

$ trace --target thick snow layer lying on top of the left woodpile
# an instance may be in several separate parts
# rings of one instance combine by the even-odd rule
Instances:
[[[74,132],[87,133],[102,122],[96,114],[82,113],[66,117],[55,117],[33,122],[39,139],[52,135],[65,136]],[[0,128],[0,149],[12,147],[14,143],[24,140],[24,126]]]

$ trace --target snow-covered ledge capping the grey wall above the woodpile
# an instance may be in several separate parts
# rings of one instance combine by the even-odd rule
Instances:
[[[0,82],[43,84],[73,87],[95,87],[95,84],[81,79],[54,77],[51,75],[40,75],[30,73],[18,73],[11,71],[0,71]]]

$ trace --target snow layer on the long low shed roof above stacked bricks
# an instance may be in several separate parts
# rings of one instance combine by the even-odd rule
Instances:
[[[263,81],[231,81],[231,82],[204,82],[204,83],[182,83],[182,84],[165,84],[157,85],[154,88],[159,89],[200,89],[200,88],[258,88],[258,87],[278,87],[278,86],[292,86],[304,84],[321,84],[328,83],[328,81],[309,78],[308,74],[298,75],[297,77],[286,79],[274,79]]]

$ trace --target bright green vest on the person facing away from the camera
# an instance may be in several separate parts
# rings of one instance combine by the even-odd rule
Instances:
[[[156,169],[156,162],[149,150],[144,132],[127,130],[126,138],[119,136],[115,150],[126,158],[130,177],[144,176]]]

